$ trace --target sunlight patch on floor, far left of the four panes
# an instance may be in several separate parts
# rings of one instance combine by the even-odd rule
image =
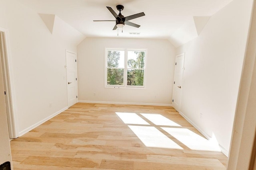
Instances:
[[[121,113],[116,112],[118,117],[122,119],[125,124],[136,124],[136,125],[149,125],[144,119],[138,116],[136,113]]]

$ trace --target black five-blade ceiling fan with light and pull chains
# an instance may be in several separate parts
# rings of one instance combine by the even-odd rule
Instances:
[[[114,10],[111,7],[109,7],[109,6],[106,6],[106,7],[111,12],[111,14],[116,18],[116,20],[93,20],[93,21],[116,21],[116,25],[114,26],[113,30],[115,30],[117,28],[122,28],[122,27],[124,27],[124,25],[130,25],[132,27],[138,28],[138,27],[140,27],[140,25],[138,25],[136,23],[132,23],[129,20],[145,16],[144,12],[141,12],[141,13],[138,13],[138,14],[134,14],[134,15],[131,15],[131,16],[124,17],[121,14],[121,11],[124,9],[124,6],[122,6],[122,5],[117,5],[116,6],[116,9],[119,11],[118,15],[116,14],[116,12],[114,12]]]

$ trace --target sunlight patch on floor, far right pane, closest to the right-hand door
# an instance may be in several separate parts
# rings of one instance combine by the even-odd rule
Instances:
[[[160,126],[180,126],[178,123],[171,121],[170,119],[160,115],[160,114],[149,114],[140,113],[142,116],[146,117],[148,120],[152,121],[155,125]]]

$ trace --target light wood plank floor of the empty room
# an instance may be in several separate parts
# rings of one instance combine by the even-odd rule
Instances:
[[[122,121],[116,112],[130,119]],[[150,115],[170,121],[161,125]],[[173,107],[78,103],[11,141],[14,170],[226,169],[221,152],[193,149],[189,134],[180,138],[182,133],[170,135],[164,128],[205,140]]]

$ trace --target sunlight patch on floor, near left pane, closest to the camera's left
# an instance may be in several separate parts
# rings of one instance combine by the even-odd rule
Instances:
[[[128,127],[144,143],[146,147],[183,149],[155,127],[132,126]]]

